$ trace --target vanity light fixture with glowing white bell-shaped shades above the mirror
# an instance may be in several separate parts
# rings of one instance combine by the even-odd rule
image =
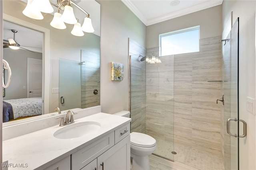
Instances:
[[[73,7],[71,4],[86,14],[82,27],[74,15]],[[53,4],[49,0],[28,0],[27,6],[22,13],[29,18],[42,20],[44,17],[42,16],[41,12],[52,13],[54,10],[52,6],[58,8],[57,12],[54,13],[54,18],[50,23],[52,27],[57,29],[66,29],[65,23],[74,24],[71,33],[75,36],[83,36],[84,33],[81,31],[87,33],[94,32],[92,20],[90,19],[88,12],[75,4],[72,0],[57,0],[57,4]],[[63,14],[60,13],[60,9],[63,11]]]

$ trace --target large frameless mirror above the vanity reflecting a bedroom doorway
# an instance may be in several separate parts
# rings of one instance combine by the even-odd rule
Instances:
[[[7,108],[13,107],[13,112],[18,110],[18,113],[13,113],[11,120],[3,123],[3,126],[42,118],[48,113],[55,112],[56,107],[66,110],[99,105],[100,4],[94,0],[76,1],[77,5],[90,14],[95,30],[93,33],[84,33],[84,36],[77,37],[70,33],[74,25],[66,24],[66,29],[50,26],[53,13],[57,11],[55,7],[52,14],[42,13],[43,20],[34,20],[22,14],[26,1],[3,2],[3,39],[14,39],[15,36],[15,41],[23,48],[14,50],[6,47],[3,50],[3,58],[12,69],[11,83],[4,89],[3,101],[7,103]],[[57,4],[57,0],[50,0],[50,2]],[[76,18],[82,24],[86,15],[76,6],[73,8]],[[4,41],[4,43],[8,42]],[[63,60],[67,61],[66,65],[62,64]],[[70,79],[74,77],[72,63],[77,63],[76,70],[80,70],[79,81]],[[63,69],[68,76],[61,75]],[[31,70],[33,74],[30,74]],[[3,75],[7,80],[7,71],[3,71]],[[79,92],[77,92],[78,86]],[[41,91],[38,90],[40,88]],[[79,95],[74,95],[73,89],[76,89]],[[93,93],[95,89],[97,94]],[[72,96],[76,98],[79,96],[78,102],[72,104],[71,102],[74,101]],[[61,97],[64,98],[65,104],[62,104]],[[20,108],[15,110],[17,104],[21,103],[28,104],[28,106],[22,106],[25,107],[23,110],[26,110],[28,115],[24,115],[24,111]],[[36,109],[29,111],[32,107]],[[8,113],[5,112],[5,114]]]

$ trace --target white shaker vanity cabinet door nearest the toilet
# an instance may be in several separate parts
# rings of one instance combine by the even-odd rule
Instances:
[[[98,170],[130,170],[130,135],[98,157]]]

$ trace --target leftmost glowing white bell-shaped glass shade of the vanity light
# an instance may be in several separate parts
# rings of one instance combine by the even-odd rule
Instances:
[[[35,20],[42,20],[44,19],[40,10],[36,9],[32,5],[33,0],[28,0],[26,8],[22,11],[22,13],[27,16],[28,18],[32,18]]]

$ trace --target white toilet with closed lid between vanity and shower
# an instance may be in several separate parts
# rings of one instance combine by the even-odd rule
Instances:
[[[114,115],[130,117],[129,111],[120,111]],[[132,170],[150,170],[148,156],[156,150],[156,139],[144,133],[130,133]]]

